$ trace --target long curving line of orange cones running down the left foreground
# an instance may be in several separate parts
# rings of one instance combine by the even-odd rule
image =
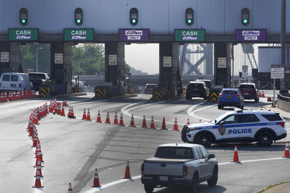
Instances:
[[[43,104],[40,107],[37,107],[30,115],[29,117],[29,122],[28,122],[28,126],[27,126],[27,132],[28,132],[28,136],[31,137],[32,140],[32,146],[31,147],[36,147],[35,150],[35,157],[36,161],[35,161],[35,165],[33,167],[36,168],[36,173],[35,176],[35,183],[34,186],[32,186],[33,188],[43,188],[44,186],[41,185],[41,181],[40,181],[40,177],[43,177],[42,174],[42,165],[41,163],[44,162],[43,161],[43,154],[41,152],[41,146],[40,146],[40,141],[38,138],[38,133],[37,133],[37,129],[36,129],[36,125],[39,124],[38,120],[40,120],[41,118],[45,117],[48,114],[48,109],[47,109],[47,103]]]

